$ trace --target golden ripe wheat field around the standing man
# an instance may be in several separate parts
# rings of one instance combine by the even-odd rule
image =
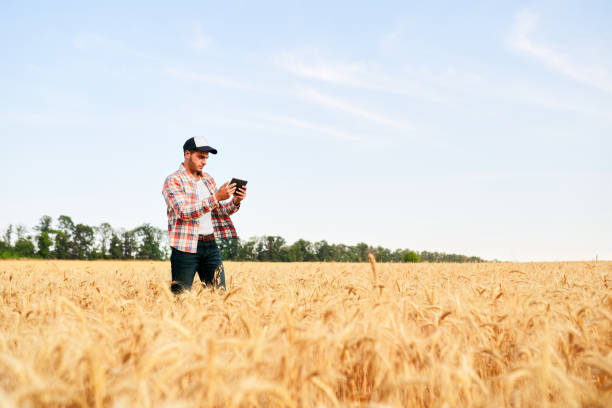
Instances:
[[[612,406],[612,262],[225,268],[1,261],[0,406]]]

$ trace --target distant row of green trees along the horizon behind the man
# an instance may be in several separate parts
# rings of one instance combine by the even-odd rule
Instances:
[[[5,228],[0,237],[0,258],[41,259],[150,259],[164,260],[170,254],[167,232],[150,224],[134,229],[114,229],[109,223],[89,226],[60,215],[55,223],[44,215],[30,233],[23,225]],[[390,250],[366,243],[356,245],[310,242],[299,239],[288,244],[279,236],[249,240],[218,241],[223,259],[265,262],[367,262],[374,254],[378,262],[482,262],[476,256],[443,252]]]

